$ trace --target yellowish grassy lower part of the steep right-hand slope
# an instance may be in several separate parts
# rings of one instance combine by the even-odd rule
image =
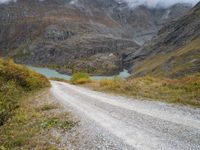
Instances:
[[[159,53],[144,59],[135,68],[134,74],[179,77],[198,71],[200,71],[200,38],[168,53]]]

